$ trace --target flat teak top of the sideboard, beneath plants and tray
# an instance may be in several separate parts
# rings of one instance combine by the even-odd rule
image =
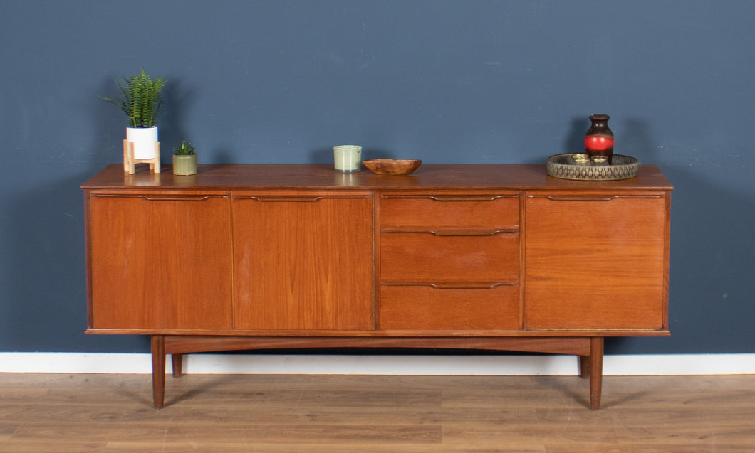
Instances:
[[[639,174],[615,181],[575,181],[548,176],[537,164],[423,164],[407,176],[384,176],[362,170],[337,173],[325,164],[203,164],[191,176],[174,176],[172,167],[152,173],[146,165],[129,175],[112,164],[82,185],[84,189],[402,189],[454,188],[670,191],[673,187],[655,165],[641,165]]]

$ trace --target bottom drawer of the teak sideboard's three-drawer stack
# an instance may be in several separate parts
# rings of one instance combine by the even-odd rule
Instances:
[[[514,330],[519,286],[381,286],[380,329]]]

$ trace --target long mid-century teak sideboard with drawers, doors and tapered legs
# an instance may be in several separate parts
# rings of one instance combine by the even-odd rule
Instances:
[[[409,347],[580,357],[599,409],[603,338],[668,335],[670,192],[544,165],[110,165],[85,192],[88,333],[220,350]]]

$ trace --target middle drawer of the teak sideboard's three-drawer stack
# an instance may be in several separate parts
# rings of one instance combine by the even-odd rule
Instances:
[[[381,234],[383,282],[519,280],[519,232]]]

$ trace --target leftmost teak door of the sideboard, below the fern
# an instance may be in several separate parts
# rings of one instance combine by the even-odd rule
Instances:
[[[230,194],[89,191],[91,329],[232,329]]]

